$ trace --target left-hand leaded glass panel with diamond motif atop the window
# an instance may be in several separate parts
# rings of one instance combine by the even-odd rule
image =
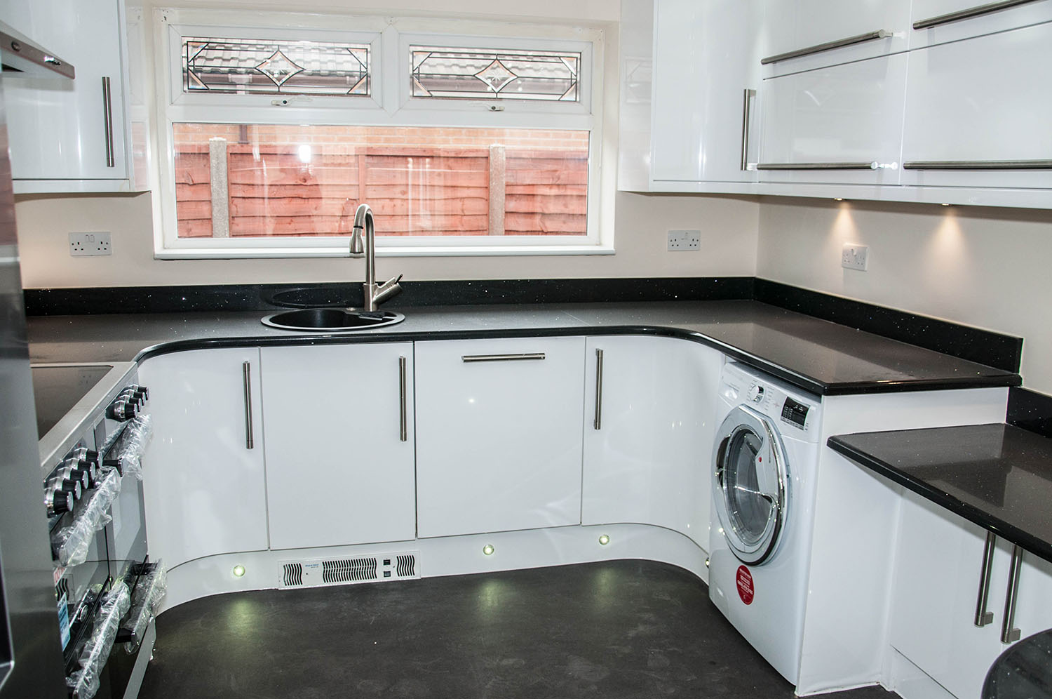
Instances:
[[[183,89],[368,96],[369,59],[367,44],[184,37]]]

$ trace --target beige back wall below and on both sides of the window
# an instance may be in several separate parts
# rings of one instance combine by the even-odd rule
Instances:
[[[359,280],[362,260],[156,260],[150,195],[18,198],[22,284],[137,286]],[[406,280],[752,276],[760,205],[730,197],[618,193],[613,255],[381,258],[379,276]],[[702,251],[669,253],[666,231],[700,228]],[[108,257],[70,257],[68,234],[109,231]]]

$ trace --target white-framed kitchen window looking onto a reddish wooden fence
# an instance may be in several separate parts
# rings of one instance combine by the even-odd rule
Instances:
[[[602,32],[255,17],[157,13],[159,257],[346,255],[360,203],[380,255],[610,252]]]

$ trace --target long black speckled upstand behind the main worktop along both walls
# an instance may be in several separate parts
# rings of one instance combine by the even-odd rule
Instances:
[[[927,318],[756,277],[403,281],[384,307],[755,300],[1013,374],[1020,338]],[[361,284],[221,284],[27,288],[26,315],[275,311],[361,305]]]

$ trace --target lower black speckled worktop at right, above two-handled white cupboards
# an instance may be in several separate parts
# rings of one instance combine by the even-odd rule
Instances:
[[[994,423],[836,435],[828,444],[1052,561],[1052,439]]]

